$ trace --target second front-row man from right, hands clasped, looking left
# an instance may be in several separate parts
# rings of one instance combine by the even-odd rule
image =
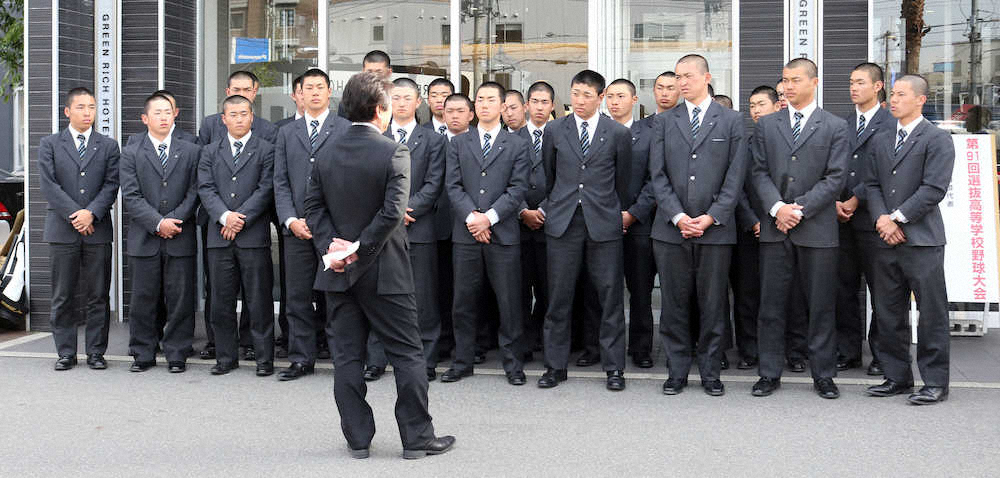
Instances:
[[[808,311],[809,366],[823,398],[840,396],[837,375],[836,200],[850,154],[844,120],[817,107],[816,64],[796,58],[782,71],[788,111],[761,118],[753,135],[753,185],[761,210],[760,380],[755,396],[772,394],[784,368],[787,304],[801,281]],[[795,272],[799,275],[796,277]],[[794,298],[792,298],[794,300]]]

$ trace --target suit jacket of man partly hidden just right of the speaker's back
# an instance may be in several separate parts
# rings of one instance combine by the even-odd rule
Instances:
[[[392,133],[385,132],[393,139]],[[417,221],[406,226],[411,243],[429,244],[437,242],[434,230],[434,208],[438,197],[444,191],[445,156],[448,139],[419,125],[406,138],[410,150],[410,213]]]

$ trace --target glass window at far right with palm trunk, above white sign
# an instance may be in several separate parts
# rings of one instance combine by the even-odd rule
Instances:
[[[1000,129],[998,13],[977,0],[905,2],[905,10],[903,3],[874,4],[872,52],[887,85],[918,73],[930,85],[928,120],[955,133]]]

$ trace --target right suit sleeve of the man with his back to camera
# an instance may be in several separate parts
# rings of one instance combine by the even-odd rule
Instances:
[[[385,199],[372,222],[361,230],[360,255],[374,256],[382,250],[392,231],[403,223],[410,197],[410,150],[399,145],[386,169]]]

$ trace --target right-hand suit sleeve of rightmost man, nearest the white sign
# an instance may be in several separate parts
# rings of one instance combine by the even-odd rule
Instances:
[[[933,211],[948,193],[948,184],[951,183],[955,168],[955,143],[944,131],[934,133],[935,137],[926,142],[920,186],[897,208],[909,222],[919,221]]]

